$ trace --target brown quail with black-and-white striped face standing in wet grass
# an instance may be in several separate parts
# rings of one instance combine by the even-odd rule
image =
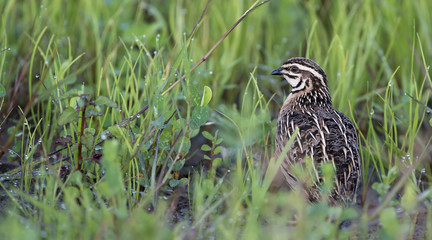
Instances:
[[[271,188],[300,186],[308,201],[317,202],[323,195],[321,166],[330,163],[334,183],[328,194],[329,202],[356,203],[361,178],[358,136],[351,120],[333,108],[326,73],[314,61],[294,57],[271,75],[282,76],[291,85],[278,115],[273,158],[280,157],[294,131],[299,129],[288,152],[282,156]],[[308,158],[314,175],[309,186],[294,171],[296,164],[305,165]]]

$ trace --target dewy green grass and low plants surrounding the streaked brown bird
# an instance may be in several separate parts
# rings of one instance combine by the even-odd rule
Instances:
[[[0,3],[1,159],[19,165],[0,175],[2,236],[431,235],[431,3],[272,0],[191,72],[257,2],[206,4]],[[363,197],[378,207],[268,192],[261,162],[289,91],[268,74],[293,56],[323,67],[334,106],[355,122]],[[192,158],[211,167],[185,174]]]

